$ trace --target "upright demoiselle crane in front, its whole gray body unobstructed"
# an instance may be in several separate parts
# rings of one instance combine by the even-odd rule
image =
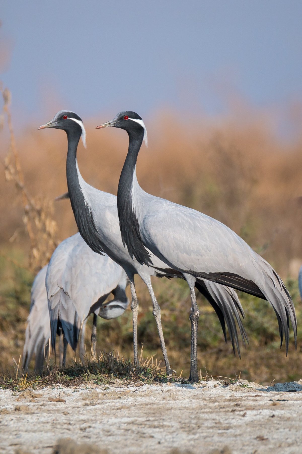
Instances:
[[[129,137],[128,153],[117,189],[122,241],[137,262],[154,266],[161,272],[176,270],[182,273],[190,287],[190,380],[198,381],[197,331],[200,312],[194,290],[196,279],[209,279],[269,301],[277,315],[281,345],[284,334],[287,353],[291,320],[297,348],[295,308],[276,271],[221,222],[143,191],[136,178],[136,160],[147,133],[138,114],[120,112],[112,121],[97,128],[110,126],[125,129]],[[154,256],[166,265],[158,267]]]

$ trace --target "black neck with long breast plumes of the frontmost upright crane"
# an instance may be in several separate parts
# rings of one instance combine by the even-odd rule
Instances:
[[[128,132],[129,147],[117,188],[117,213],[120,221],[122,242],[128,248],[130,257],[141,265],[152,265],[141,238],[138,219],[132,207],[132,182],[136,171],[136,160],[144,138],[143,129]]]

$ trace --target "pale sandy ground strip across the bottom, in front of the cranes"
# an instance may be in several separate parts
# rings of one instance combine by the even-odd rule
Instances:
[[[112,454],[301,453],[302,381],[242,385],[0,390],[0,452],[52,453],[69,437]]]

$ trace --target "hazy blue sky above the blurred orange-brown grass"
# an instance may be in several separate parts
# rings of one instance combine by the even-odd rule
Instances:
[[[2,0],[0,19],[21,124],[59,109],[224,114],[232,94],[281,111],[302,100],[301,0]]]

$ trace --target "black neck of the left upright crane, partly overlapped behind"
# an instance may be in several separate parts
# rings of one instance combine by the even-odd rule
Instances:
[[[67,133],[68,152],[66,161],[67,187],[71,207],[81,237],[94,252],[102,253],[103,249],[98,241],[98,233],[88,200],[85,200],[80,187],[77,171],[77,148],[82,131]]]

